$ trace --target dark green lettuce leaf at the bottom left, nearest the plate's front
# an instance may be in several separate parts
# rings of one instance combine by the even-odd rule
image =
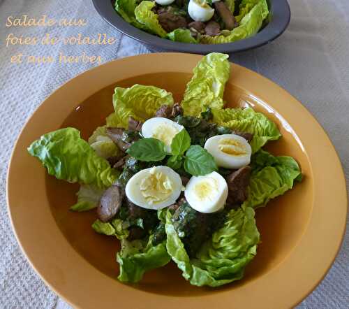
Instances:
[[[121,240],[121,251],[117,253],[120,265],[118,279],[121,282],[138,282],[146,271],[165,266],[170,261],[166,242],[152,244],[152,236],[146,245],[142,240]]]

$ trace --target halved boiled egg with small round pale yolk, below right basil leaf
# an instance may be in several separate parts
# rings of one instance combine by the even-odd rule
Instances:
[[[193,176],[186,185],[184,196],[190,206],[200,213],[215,213],[224,208],[228,185],[217,172]]]

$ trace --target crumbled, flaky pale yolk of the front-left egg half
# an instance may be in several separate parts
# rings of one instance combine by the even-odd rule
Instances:
[[[140,182],[140,192],[150,204],[166,201],[173,192],[173,183],[168,175],[159,173],[154,166]]]

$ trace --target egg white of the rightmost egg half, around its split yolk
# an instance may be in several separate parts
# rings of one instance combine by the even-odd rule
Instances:
[[[237,147],[237,149],[242,150],[244,154],[232,155],[220,150],[220,143],[224,139],[229,139],[239,143],[241,147],[232,147]],[[245,138],[236,134],[223,134],[212,136],[206,141],[205,149],[214,157],[214,161],[216,161],[216,164],[224,168],[240,168],[242,166],[250,164],[251,161],[251,145],[248,144],[248,141],[246,141]]]

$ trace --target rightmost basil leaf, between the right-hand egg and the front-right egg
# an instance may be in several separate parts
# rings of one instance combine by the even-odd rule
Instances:
[[[189,147],[184,160],[184,169],[194,176],[207,175],[218,170],[214,157],[200,145]]]

